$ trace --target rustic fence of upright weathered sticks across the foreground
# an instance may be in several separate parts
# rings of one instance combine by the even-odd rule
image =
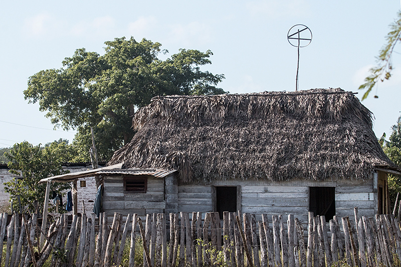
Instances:
[[[137,214],[128,214],[125,224],[122,215],[115,213],[110,227],[101,213],[98,220],[94,214],[90,218],[82,214],[70,222],[61,215],[48,225],[41,245],[36,214],[28,221],[14,214],[7,221],[7,213],[0,214],[0,234],[6,235],[0,262],[5,267],[334,267],[344,263],[392,267],[401,260],[397,219],[393,215],[359,218],[357,209],[355,221],[334,216],[329,223],[309,212],[307,237],[291,214],[273,215],[271,221],[263,214],[257,221],[254,214],[225,212],[222,227],[217,212],[147,214],[145,222]]]

